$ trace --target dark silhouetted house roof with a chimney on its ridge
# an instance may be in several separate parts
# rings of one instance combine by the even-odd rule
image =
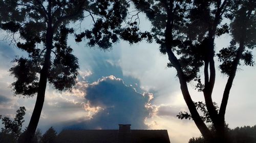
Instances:
[[[170,140],[167,130],[131,130],[131,125],[119,125],[119,130],[63,130],[55,143],[66,142],[169,143]]]

